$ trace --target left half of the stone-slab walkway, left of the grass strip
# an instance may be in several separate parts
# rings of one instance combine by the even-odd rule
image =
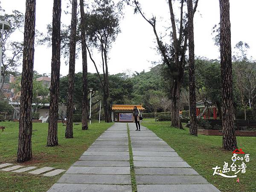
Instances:
[[[126,123],[108,128],[49,192],[131,192]]]

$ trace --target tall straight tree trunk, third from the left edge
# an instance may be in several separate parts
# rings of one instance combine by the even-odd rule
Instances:
[[[73,96],[74,96],[74,78],[76,62],[76,9],[77,0],[72,0],[72,18],[70,34],[70,60],[68,73],[68,95],[67,95],[67,127],[66,138],[73,138]]]

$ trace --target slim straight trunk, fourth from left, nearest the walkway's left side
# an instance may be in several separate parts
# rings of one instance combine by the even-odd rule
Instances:
[[[82,44],[82,63],[83,63],[83,103],[82,103],[82,130],[88,129],[88,84],[87,84],[87,50],[86,50],[86,34],[85,34],[85,13],[84,0],[80,0],[81,13],[81,44]]]

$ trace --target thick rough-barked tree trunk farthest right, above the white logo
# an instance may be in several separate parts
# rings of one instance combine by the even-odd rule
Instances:
[[[221,47],[221,85],[222,85],[222,145],[226,150],[237,148],[232,82],[232,52],[230,32],[229,0],[220,3],[220,47]]]

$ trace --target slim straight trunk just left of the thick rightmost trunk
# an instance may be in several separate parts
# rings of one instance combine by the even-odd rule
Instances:
[[[197,136],[196,98],[195,98],[195,44],[193,2],[187,0],[189,30],[189,134]]]

